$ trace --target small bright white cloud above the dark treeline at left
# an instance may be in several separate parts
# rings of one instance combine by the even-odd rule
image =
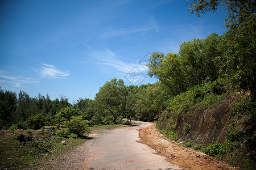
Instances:
[[[43,78],[49,77],[49,78],[64,78],[66,76],[70,75],[69,71],[65,70],[59,70],[54,65],[41,63],[43,66],[40,70],[40,75]]]

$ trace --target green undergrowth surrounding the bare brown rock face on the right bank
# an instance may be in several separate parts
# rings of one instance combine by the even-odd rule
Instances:
[[[228,162],[234,167],[256,169],[254,162],[256,157],[254,146],[256,143],[255,100],[250,99],[250,93],[242,94],[230,84],[228,79],[217,79],[214,82],[197,85],[187,92],[173,97],[168,101],[167,109],[160,115],[156,127],[160,133],[167,135],[167,137],[170,137],[177,129],[182,128],[184,138],[184,135],[190,133],[192,127],[190,122],[189,124],[177,122],[178,118],[183,120],[188,113],[187,116],[198,118],[205,110],[210,111],[210,109],[216,108],[229,97],[233,99],[233,103],[230,108],[226,108],[226,113],[228,113],[226,119],[218,120],[217,117],[212,117],[207,120],[211,128],[224,125],[226,128],[225,141],[212,141],[212,143],[197,141],[201,143],[200,145],[188,142],[184,146],[201,150],[218,160]],[[175,141],[179,140],[180,138],[177,137],[176,133],[175,135]]]

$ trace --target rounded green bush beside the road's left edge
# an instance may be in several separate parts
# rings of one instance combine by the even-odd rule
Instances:
[[[64,122],[64,125],[73,134],[77,134],[81,137],[88,129],[89,121],[83,120],[82,116],[73,116],[70,121]]]

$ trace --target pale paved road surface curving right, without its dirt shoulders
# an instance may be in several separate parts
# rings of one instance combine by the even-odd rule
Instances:
[[[138,129],[150,123],[110,130],[88,148],[85,169],[181,169],[140,143]]]

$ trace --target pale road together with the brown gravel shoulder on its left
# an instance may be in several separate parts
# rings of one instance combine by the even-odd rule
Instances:
[[[142,143],[138,129],[148,125],[141,122],[140,126],[92,134],[93,139],[75,150],[49,160],[47,169],[182,169]]]

